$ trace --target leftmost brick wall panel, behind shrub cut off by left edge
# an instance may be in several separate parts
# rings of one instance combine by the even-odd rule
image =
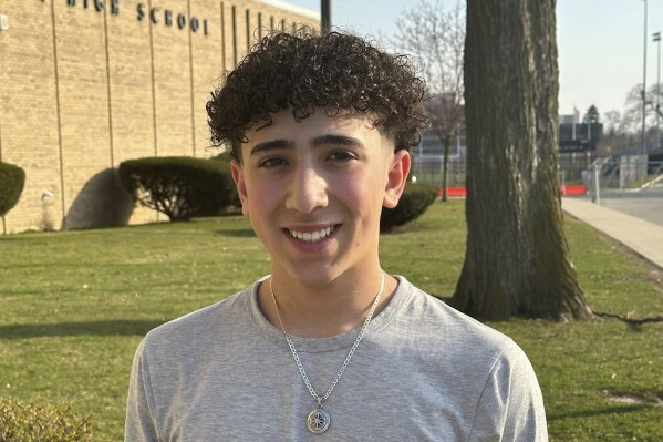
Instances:
[[[2,1],[0,160],[25,171],[19,204],[0,232],[60,228],[63,217],[51,4]],[[42,199],[44,189],[54,197]]]

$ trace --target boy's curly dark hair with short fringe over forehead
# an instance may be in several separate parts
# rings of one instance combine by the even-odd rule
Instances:
[[[410,58],[391,55],[359,37],[332,32],[265,37],[207,103],[211,144],[237,157],[249,127],[267,126],[270,114],[291,109],[299,122],[315,109],[328,115],[365,115],[408,150],[427,123],[426,84]]]

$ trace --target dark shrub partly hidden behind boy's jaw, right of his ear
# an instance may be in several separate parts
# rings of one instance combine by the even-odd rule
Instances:
[[[382,208],[380,232],[392,232],[394,227],[418,218],[437,199],[437,193],[435,186],[407,183],[398,205],[394,208]]]

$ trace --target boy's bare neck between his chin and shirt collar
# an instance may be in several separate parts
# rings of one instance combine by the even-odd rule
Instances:
[[[286,331],[300,338],[328,338],[363,325],[377,295],[382,270],[377,269],[374,275],[361,280],[336,278],[319,286],[302,286],[278,275],[272,275],[272,278],[271,285]],[[396,286],[397,281],[385,275],[374,316],[389,304]],[[269,281],[260,286],[258,302],[265,317],[281,329]]]

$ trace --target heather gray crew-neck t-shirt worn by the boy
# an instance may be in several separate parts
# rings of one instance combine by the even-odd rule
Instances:
[[[136,351],[126,441],[547,441],[543,401],[508,337],[405,278],[370,323],[324,409],[315,408],[280,329],[262,316],[260,281],[152,330]],[[358,330],[293,337],[318,394]]]

